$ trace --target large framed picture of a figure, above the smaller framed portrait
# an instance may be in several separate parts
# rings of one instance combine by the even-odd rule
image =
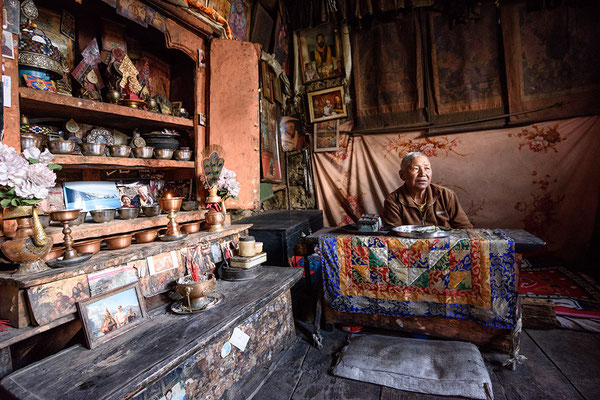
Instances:
[[[300,31],[298,41],[304,83],[344,75],[342,39],[331,24]]]

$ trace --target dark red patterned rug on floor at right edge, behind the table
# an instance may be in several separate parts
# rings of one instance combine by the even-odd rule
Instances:
[[[519,295],[549,299],[557,315],[600,318],[600,285],[564,267],[521,266]]]

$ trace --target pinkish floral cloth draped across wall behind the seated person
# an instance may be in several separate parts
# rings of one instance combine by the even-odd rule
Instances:
[[[317,200],[330,226],[382,214],[402,184],[400,160],[431,158],[433,182],[454,190],[475,227],[524,228],[578,259],[590,243],[600,189],[600,117],[419,139],[418,133],[341,135],[315,153]]]

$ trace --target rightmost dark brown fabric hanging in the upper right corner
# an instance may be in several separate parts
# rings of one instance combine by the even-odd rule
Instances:
[[[512,117],[541,120],[600,112],[600,2],[579,1],[531,11],[502,5],[502,32],[511,112],[552,106]]]

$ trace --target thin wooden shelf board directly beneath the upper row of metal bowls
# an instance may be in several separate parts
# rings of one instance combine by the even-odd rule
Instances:
[[[143,158],[54,155],[53,162],[62,165],[63,168],[85,167],[95,169],[194,169],[193,161],[154,160]]]

